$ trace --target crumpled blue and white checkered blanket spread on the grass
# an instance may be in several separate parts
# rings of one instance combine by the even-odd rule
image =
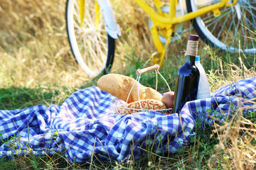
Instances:
[[[187,102],[179,116],[114,114],[110,101],[115,97],[92,86],[76,91],[62,106],[0,111],[0,157],[60,152],[82,163],[92,155],[119,162],[131,154],[138,159],[149,146],[152,152],[174,153],[195,135],[198,120],[206,128],[217,118],[225,121],[240,105],[252,106],[246,100],[255,100],[255,88],[255,77],[228,84],[211,98]]]

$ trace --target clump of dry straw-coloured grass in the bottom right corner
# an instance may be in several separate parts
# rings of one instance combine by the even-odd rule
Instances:
[[[240,115],[231,123],[225,123],[223,126],[216,125],[214,132],[218,134],[220,142],[209,159],[209,167],[255,169],[255,122]]]

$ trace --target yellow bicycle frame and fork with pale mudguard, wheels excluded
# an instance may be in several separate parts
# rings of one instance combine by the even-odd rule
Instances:
[[[79,0],[79,1],[80,1],[79,6],[80,6],[80,16],[81,16],[81,24],[82,24],[82,18],[83,18],[82,16],[85,13],[85,10],[84,10],[85,0]],[[178,23],[190,21],[191,19],[201,16],[204,13],[208,13],[208,12],[213,12],[214,16],[218,17],[220,16],[219,8],[223,6],[232,6],[238,2],[238,0],[233,0],[232,4],[228,4],[228,1],[230,0],[221,0],[216,4],[211,4],[211,5],[199,8],[197,11],[193,11],[191,13],[182,13],[181,16],[176,16],[176,6],[177,6],[178,0],[170,0],[170,10],[169,10],[170,12],[167,15],[166,13],[162,13],[161,11],[161,7],[163,6],[161,3],[161,0],[154,0],[154,4],[156,5],[157,11],[155,11],[153,8],[151,8],[151,6],[146,4],[144,0],[135,0],[135,1],[149,15],[152,22],[154,23],[154,26],[151,27],[151,35],[154,40],[154,45],[156,46],[156,49],[158,50],[158,52],[152,55],[151,61],[154,62],[154,64],[159,64],[160,66],[164,60],[166,46],[169,45],[172,35],[176,31],[176,26]],[[204,1],[204,0],[201,0],[201,1]],[[110,1],[97,0],[95,3],[95,6],[96,6],[95,14],[97,16],[95,18],[96,25],[100,18],[98,13],[100,12],[100,9],[101,9],[103,13],[103,17],[105,18],[107,33],[110,36],[112,36],[112,38],[115,38],[115,39],[119,38],[120,30],[114,18],[114,13],[112,11]],[[97,26],[95,26],[95,28],[97,28]],[[163,35],[164,38],[166,38],[165,46],[159,39],[159,35]]]

